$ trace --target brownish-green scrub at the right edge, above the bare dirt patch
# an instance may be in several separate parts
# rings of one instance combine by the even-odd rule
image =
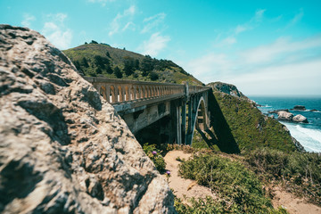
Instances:
[[[287,190],[321,205],[321,155],[309,152],[281,152],[257,149],[245,155],[251,169],[259,175],[275,178]]]

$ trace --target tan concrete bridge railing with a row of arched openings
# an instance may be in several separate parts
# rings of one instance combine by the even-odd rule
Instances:
[[[84,77],[92,83],[103,98],[111,103],[127,103],[153,99],[168,95],[185,95],[185,85],[172,83],[144,82],[118,78],[90,78]],[[193,94],[208,90],[204,86],[189,86],[188,93]]]

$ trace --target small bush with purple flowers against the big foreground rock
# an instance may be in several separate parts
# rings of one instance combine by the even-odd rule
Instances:
[[[143,150],[155,164],[156,169],[159,170],[161,173],[165,172],[166,162],[164,161],[164,158],[161,156],[161,151],[156,149],[156,145],[144,144]]]

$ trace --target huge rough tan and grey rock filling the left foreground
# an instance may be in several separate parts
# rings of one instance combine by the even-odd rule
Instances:
[[[173,213],[126,123],[36,31],[0,25],[0,212]]]

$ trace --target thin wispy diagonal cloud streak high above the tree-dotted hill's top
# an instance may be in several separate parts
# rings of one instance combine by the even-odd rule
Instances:
[[[109,32],[108,35],[111,37],[112,35],[119,33],[119,31],[125,31],[127,29],[135,30],[135,27],[134,27],[135,24],[133,21],[125,21],[126,24],[123,23],[124,22],[123,20],[125,18],[128,18],[129,20],[131,20],[132,17],[135,15],[135,13],[136,13],[135,5],[131,5],[124,12],[118,13],[116,17],[111,21],[111,31]],[[121,26],[124,26],[124,27],[121,27]]]

